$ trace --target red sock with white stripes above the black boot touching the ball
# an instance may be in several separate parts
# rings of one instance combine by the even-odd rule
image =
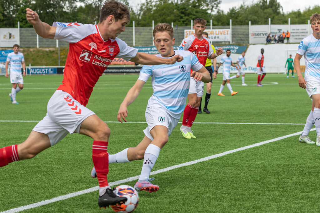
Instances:
[[[108,186],[107,174],[109,172],[109,156],[107,141],[93,141],[92,161],[97,172],[100,187]]]

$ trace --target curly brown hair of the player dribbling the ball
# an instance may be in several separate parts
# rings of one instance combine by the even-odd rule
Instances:
[[[115,0],[106,1],[100,11],[100,22],[107,19],[108,16],[113,15],[115,20],[127,18],[130,21],[130,11],[129,8]]]

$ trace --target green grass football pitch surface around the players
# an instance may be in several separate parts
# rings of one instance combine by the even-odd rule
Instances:
[[[241,86],[241,78],[233,79],[233,90],[239,93],[231,96],[225,87],[226,96],[221,97],[216,95],[222,82],[219,74],[208,105],[211,114],[198,114],[192,127],[197,139],[184,139],[178,124],[153,168],[157,174],[150,176],[160,189],[140,192],[135,212],[319,212],[320,147],[298,141],[311,101],[297,78],[285,76],[267,74],[264,87],[256,87],[257,75],[247,74],[249,86]],[[111,128],[111,154],[136,146],[144,137],[151,80],[128,107],[131,123],[116,119],[137,78],[103,75],[87,105]],[[45,116],[62,76],[27,76],[24,81],[25,88],[17,95],[20,104],[14,105],[8,96],[11,84],[0,76],[0,147],[28,137]],[[309,136],[315,140],[315,131]],[[257,144],[262,141],[267,142]],[[22,206],[30,208],[25,212],[113,212],[98,208],[98,191],[92,188],[98,181],[90,177],[91,155],[92,139],[72,134],[33,159],[0,168],[0,212],[22,210]],[[202,159],[208,156],[211,159]],[[190,161],[196,162],[184,164]],[[141,161],[110,164],[108,180],[114,186],[133,186],[141,166]],[[129,182],[119,181],[130,177]],[[75,192],[88,193],[70,194]],[[49,204],[38,203],[50,199]]]

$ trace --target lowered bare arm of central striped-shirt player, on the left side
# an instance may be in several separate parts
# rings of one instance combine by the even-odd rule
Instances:
[[[144,82],[143,80],[138,79],[136,83],[133,85],[133,87],[129,89],[118,111],[118,121],[120,121],[121,123],[122,123],[122,119],[125,122],[127,122],[127,120],[125,119],[128,116],[127,106],[129,106],[134,100],[136,100],[145,83],[146,82]]]

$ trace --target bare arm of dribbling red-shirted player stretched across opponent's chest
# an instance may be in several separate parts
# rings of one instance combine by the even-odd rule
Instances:
[[[138,52],[137,55],[130,61],[142,65],[159,65],[159,64],[174,64],[183,60],[180,55],[175,55],[171,58],[161,58],[147,53]]]

